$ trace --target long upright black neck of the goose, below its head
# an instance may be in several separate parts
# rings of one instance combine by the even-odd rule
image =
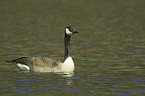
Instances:
[[[64,37],[64,47],[65,47],[65,53],[64,53],[64,59],[70,56],[70,35],[67,35],[65,32],[65,37]]]

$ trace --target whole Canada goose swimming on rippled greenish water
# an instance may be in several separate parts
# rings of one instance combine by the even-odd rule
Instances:
[[[21,57],[15,60],[7,61],[15,64],[21,71],[33,72],[73,72],[74,62],[70,57],[70,38],[71,35],[78,33],[75,28],[68,26],[65,29],[64,46],[65,54],[63,63],[52,60],[47,57]]]

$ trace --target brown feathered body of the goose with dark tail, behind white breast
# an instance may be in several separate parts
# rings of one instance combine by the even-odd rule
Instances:
[[[62,66],[62,63],[47,57],[21,57],[8,62],[29,66],[33,72],[61,72]]]

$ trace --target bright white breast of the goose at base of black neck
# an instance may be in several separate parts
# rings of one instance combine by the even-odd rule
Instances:
[[[63,72],[73,72],[74,71],[74,62],[71,57],[66,58],[62,65]]]

